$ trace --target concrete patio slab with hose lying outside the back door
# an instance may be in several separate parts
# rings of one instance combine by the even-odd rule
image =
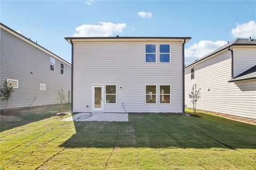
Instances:
[[[88,113],[82,112],[72,115],[61,121],[106,121],[106,122],[128,122],[128,114],[123,113]]]

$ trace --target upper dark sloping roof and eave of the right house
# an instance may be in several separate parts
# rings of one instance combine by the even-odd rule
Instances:
[[[190,67],[192,66],[193,64],[199,62],[199,61],[202,61],[202,60],[205,60],[207,58],[209,58],[210,56],[214,55],[214,54],[217,54],[223,50],[226,50],[228,48],[230,48],[231,46],[255,46],[256,45],[256,39],[248,39],[248,38],[237,38],[233,41],[231,41],[229,44],[226,44],[226,45],[223,45],[222,47],[218,48],[217,50],[214,50],[213,52],[203,56],[201,59],[198,59],[190,64],[188,64],[188,66],[186,66],[185,68],[187,67]]]

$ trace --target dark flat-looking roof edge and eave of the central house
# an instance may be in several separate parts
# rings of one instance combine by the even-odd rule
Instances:
[[[148,41],[155,41],[156,39],[175,39],[177,41],[179,40],[185,40],[187,43],[191,37],[65,37],[66,41],[71,44],[70,41],[72,40],[80,40],[80,41],[142,41],[143,39],[147,39]]]

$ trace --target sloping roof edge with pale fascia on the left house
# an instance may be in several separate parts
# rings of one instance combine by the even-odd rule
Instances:
[[[60,60],[60,61],[62,61],[62,62],[65,62],[66,64],[68,64],[69,66],[71,66],[71,63],[69,63],[68,61],[62,59],[60,56],[58,56],[58,55],[54,54],[53,52],[47,50],[47,49],[44,48],[43,46],[41,46],[41,45],[39,45],[39,44],[37,44],[37,43],[31,41],[31,39],[29,39],[29,38],[27,38],[27,37],[21,35],[20,33],[18,33],[17,31],[15,31],[15,30],[13,30],[13,29],[11,29],[10,27],[7,27],[7,26],[4,25],[2,22],[0,22],[0,27],[1,27],[2,29],[4,29],[5,31],[7,31],[8,33],[14,35],[15,37],[18,37],[18,38],[22,39],[23,41],[29,43],[30,45],[35,46],[35,47],[38,48],[39,50],[41,50],[41,51],[43,51],[43,52],[45,52],[45,53],[47,53],[47,54],[53,56],[55,59],[58,59],[58,60]]]

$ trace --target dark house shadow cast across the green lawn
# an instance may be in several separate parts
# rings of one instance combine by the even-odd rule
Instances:
[[[238,148],[256,149],[256,126],[198,113],[129,114],[129,122],[74,122],[65,148]]]

